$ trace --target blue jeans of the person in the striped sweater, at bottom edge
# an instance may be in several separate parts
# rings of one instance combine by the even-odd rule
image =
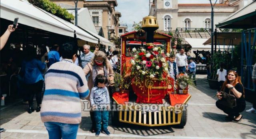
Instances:
[[[79,124],[44,122],[49,139],[76,139]]]

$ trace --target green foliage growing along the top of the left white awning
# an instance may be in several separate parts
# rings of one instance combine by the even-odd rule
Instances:
[[[74,16],[68,13],[66,9],[57,6],[55,3],[50,2],[49,0],[28,0],[28,2],[68,22],[74,20]]]

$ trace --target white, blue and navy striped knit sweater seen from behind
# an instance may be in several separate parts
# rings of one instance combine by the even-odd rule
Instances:
[[[81,67],[74,65],[71,59],[54,63],[45,75],[42,122],[80,123],[80,98],[87,98],[88,95],[88,85]]]

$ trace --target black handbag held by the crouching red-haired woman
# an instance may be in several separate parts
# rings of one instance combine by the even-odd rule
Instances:
[[[234,95],[230,94],[230,89],[229,89],[229,93],[222,92],[222,91],[220,91],[220,92],[221,92],[222,99],[218,100],[219,104],[222,104],[229,108],[236,107],[236,97]]]

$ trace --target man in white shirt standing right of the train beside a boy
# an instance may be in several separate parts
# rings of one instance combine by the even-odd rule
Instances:
[[[181,48],[180,53],[176,54],[175,62],[177,63],[179,73],[180,72],[185,73],[186,70],[188,70],[187,56],[184,53],[185,53],[185,49]]]

